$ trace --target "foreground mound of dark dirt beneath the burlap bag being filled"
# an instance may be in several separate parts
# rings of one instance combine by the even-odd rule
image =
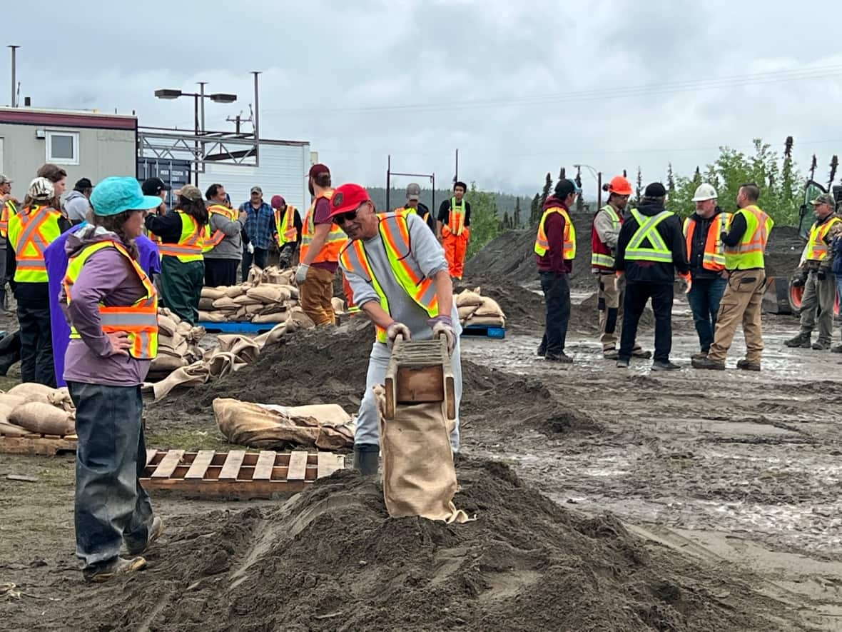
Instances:
[[[277,509],[168,522],[150,568],[79,591],[69,629],[773,629],[780,604],[727,570],[584,517],[501,463],[457,463],[476,522],[390,519],[345,471]],[[103,622],[110,622],[103,627]]]

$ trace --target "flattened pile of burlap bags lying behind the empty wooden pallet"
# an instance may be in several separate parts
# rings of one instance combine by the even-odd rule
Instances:
[[[354,422],[338,404],[286,407],[214,399],[216,425],[228,442],[285,449],[338,450],[354,445]]]

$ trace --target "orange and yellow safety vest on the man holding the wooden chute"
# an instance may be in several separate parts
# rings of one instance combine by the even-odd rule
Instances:
[[[439,315],[439,299],[435,293],[435,284],[432,279],[425,277],[417,267],[412,265],[412,259],[409,256],[411,251],[406,217],[402,213],[381,213],[377,217],[380,220],[378,228],[383,248],[386,250],[386,257],[397,282],[418,307],[424,309],[430,318],[435,318]],[[381,308],[391,315],[389,298],[386,297],[386,292],[383,292],[380,282],[371,270],[365,255],[365,246],[360,239],[354,239],[342,249],[339,261],[345,270],[371,283],[377,296],[380,297]],[[399,297],[392,298],[399,300]],[[377,340],[386,342],[386,329],[381,327],[376,329]]]

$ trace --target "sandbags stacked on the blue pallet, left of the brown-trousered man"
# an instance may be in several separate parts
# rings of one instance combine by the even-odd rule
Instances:
[[[247,281],[231,287],[203,287],[200,321],[285,323],[298,305],[298,288],[286,283]]]

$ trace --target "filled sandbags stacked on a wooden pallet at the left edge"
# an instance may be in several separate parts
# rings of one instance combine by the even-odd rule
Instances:
[[[76,430],[76,408],[67,388],[24,382],[0,392],[0,435],[69,435]]]

